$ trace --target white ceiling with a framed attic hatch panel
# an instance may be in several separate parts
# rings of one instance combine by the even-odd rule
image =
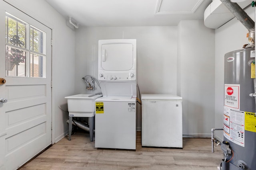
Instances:
[[[86,27],[173,26],[203,20],[212,0],[46,0]]]

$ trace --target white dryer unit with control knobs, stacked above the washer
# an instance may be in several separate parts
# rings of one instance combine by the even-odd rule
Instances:
[[[98,55],[100,82],[136,82],[136,39],[99,40]]]

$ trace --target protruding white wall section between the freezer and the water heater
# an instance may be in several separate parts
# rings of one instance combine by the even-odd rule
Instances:
[[[214,29],[202,20],[178,25],[177,73],[183,134],[209,137],[214,127]]]

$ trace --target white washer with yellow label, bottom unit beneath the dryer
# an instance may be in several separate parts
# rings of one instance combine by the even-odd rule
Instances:
[[[136,97],[96,99],[95,147],[136,149]]]

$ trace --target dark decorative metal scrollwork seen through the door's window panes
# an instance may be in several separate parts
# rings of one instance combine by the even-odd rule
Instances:
[[[23,47],[25,44],[24,42],[20,41],[20,37],[18,35],[14,35],[13,38],[10,39],[10,42],[13,45],[17,45],[19,47]],[[23,50],[16,49],[11,47],[11,53],[8,54],[8,58],[10,61],[9,70],[12,70],[14,65],[18,66],[19,63],[24,63],[26,60],[26,56],[23,56]]]

